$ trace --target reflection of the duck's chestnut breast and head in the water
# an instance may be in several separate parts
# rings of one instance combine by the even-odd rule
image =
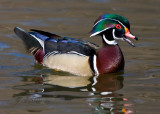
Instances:
[[[123,88],[124,77],[117,74],[100,75],[93,77],[94,83],[90,91],[91,98],[88,98],[89,105],[93,107],[94,114],[101,113],[131,113],[128,109],[127,98],[122,94],[114,93]],[[97,93],[98,92],[98,93]],[[127,106],[127,107],[126,107]]]

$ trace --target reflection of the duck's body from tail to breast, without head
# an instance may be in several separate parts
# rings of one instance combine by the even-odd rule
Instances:
[[[86,91],[90,94],[100,93],[104,95],[105,93],[112,93],[123,87],[123,76],[120,74],[109,74],[109,75],[99,75],[94,77],[81,77],[73,75],[58,75],[57,74],[45,74],[40,76],[22,76],[24,82],[35,82],[32,83],[35,86],[40,86],[43,95],[45,92],[53,91]],[[15,87],[15,88],[28,88],[26,92],[30,90],[30,84]],[[23,89],[24,90],[24,89]],[[37,89],[32,89],[32,92],[37,92]],[[39,91],[39,89],[38,89]]]

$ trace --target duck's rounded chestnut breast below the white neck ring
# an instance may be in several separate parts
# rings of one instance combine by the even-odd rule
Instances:
[[[99,74],[118,72],[124,69],[124,57],[118,45],[107,45],[97,52]]]

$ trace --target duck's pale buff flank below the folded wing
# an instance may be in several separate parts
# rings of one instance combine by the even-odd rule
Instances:
[[[92,76],[89,56],[75,53],[51,54],[43,59],[43,64],[52,69],[70,72],[79,76]]]

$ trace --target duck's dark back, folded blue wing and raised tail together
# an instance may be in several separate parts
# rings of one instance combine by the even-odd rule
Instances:
[[[45,55],[57,53],[74,53],[84,56],[92,56],[96,53],[98,45],[75,38],[61,37],[59,35],[42,30],[31,29],[25,32],[21,28],[15,27],[14,31],[24,42],[28,52],[36,53],[41,49]]]

